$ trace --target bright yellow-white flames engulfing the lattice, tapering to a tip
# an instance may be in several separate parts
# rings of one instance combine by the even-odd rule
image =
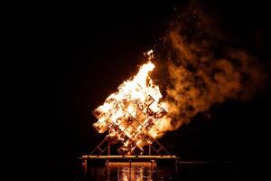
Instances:
[[[133,155],[136,150],[142,154],[144,146],[163,136],[170,125],[167,103],[149,75],[155,68],[154,52],[145,55],[148,62],[94,111],[98,121],[93,126],[99,133],[107,131],[109,138],[120,141],[123,146],[118,151],[122,155]]]

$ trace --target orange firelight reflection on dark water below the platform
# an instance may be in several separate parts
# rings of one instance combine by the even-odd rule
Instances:
[[[90,180],[173,180],[174,169],[158,168],[154,162],[109,162],[106,167],[89,167]]]

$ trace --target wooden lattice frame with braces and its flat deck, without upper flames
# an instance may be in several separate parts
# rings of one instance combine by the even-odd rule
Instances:
[[[120,121],[120,124],[111,123],[108,125],[109,129],[118,131],[120,138],[110,136],[110,133],[104,138],[96,148],[90,153],[89,156],[83,156],[81,159],[160,159],[160,158],[177,158],[172,156],[169,151],[155,138],[149,136],[148,131],[154,126],[155,121],[163,118],[166,115],[164,108],[161,108],[157,112],[151,110],[150,106],[154,102],[154,98],[148,96],[144,105],[132,102],[132,107],[135,110],[128,112],[128,117]],[[131,102],[130,102],[131,104]],[[129,105],[131,106],[131,105]],[[123,108],[125,109],[125,108]],[[133,116],[133,111],[136,111],[136,117]],[[135,115],[135,114],[134,114]],[[120,126],[123,126],[120,128]],[[133,134],[126,134],[126,129],[132,129]],[[112,130],[111,130],[112,131]],[[110,132],[110,130],[109,130]],[[120,140],[123,146],[118,149],[119,156],[111,155],[111,145],[117,143]],[[136,142],[147,143],[147,154],[143,156],[144,149],[139,148]],[[128,147],[126,146],[128,144]]]

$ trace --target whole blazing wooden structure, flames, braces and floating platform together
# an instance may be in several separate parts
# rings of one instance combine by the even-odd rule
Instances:
[[[150,61],[152,52],[147,55]],[[164,135],[170,119],[159,87],[148,75],[153,69],[151,61],[145,63],[132,79],[124,81],[117,92],[109,95],[94,111],[98,118],[94,128],[99,133],[107,132],[107,136],[89,155],[79,157],[83,167],[87,166],[88,160],[156,163],[157,160],[179,158],[171,155],[157,140]],[[112,155],[112,146],[119,143],[122,145],[117,148],[117,155]]]

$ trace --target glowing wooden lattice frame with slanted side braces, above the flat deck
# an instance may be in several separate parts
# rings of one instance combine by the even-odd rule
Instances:
[[[122,109],[127,112],[127,117],[120,119],[119,124],[115,122],[108,123],[109,134],[106,138],[102,140],[100,144],[91,152],[90,155],[97,154],[98,156],[102,155],[107,150],[107,155],[110,155],[110,146],[117,141],[123,143],[123,146],[118,149],[118,153],[122,156],[130,155],[142,155],[144,149],[139,147],[139,143],[143,143],[149,146],[148,155],[152,155],[152,149],[157,155],[161,155],[162,151],[165,154],[170,155],[169,152],[161,145],[155,138],[151,137],[148,132],[154,126],[154,123],[157,119],[161,119],[166,114],[164,108],[161,108],[157,112],[151,110],[150,106],[154,102],[154,98],[148,96],[144,104],[139,102],[129,101],[125,105],[120,102]],[[129,108],[129,110],[126,110]],[[132,108],[132,109],[131,109]],[[135,112],[135,113],[134,113]],[[135,115],[135,116],[133,116]],[[128,130],[128,131],[126,131]],[[117,136],[110,134],[111,131],[117,132]],[[107,144],[104,148],[102,146],[107,141]],[[156,143],[158,148],[152,146],[153,143]]]

